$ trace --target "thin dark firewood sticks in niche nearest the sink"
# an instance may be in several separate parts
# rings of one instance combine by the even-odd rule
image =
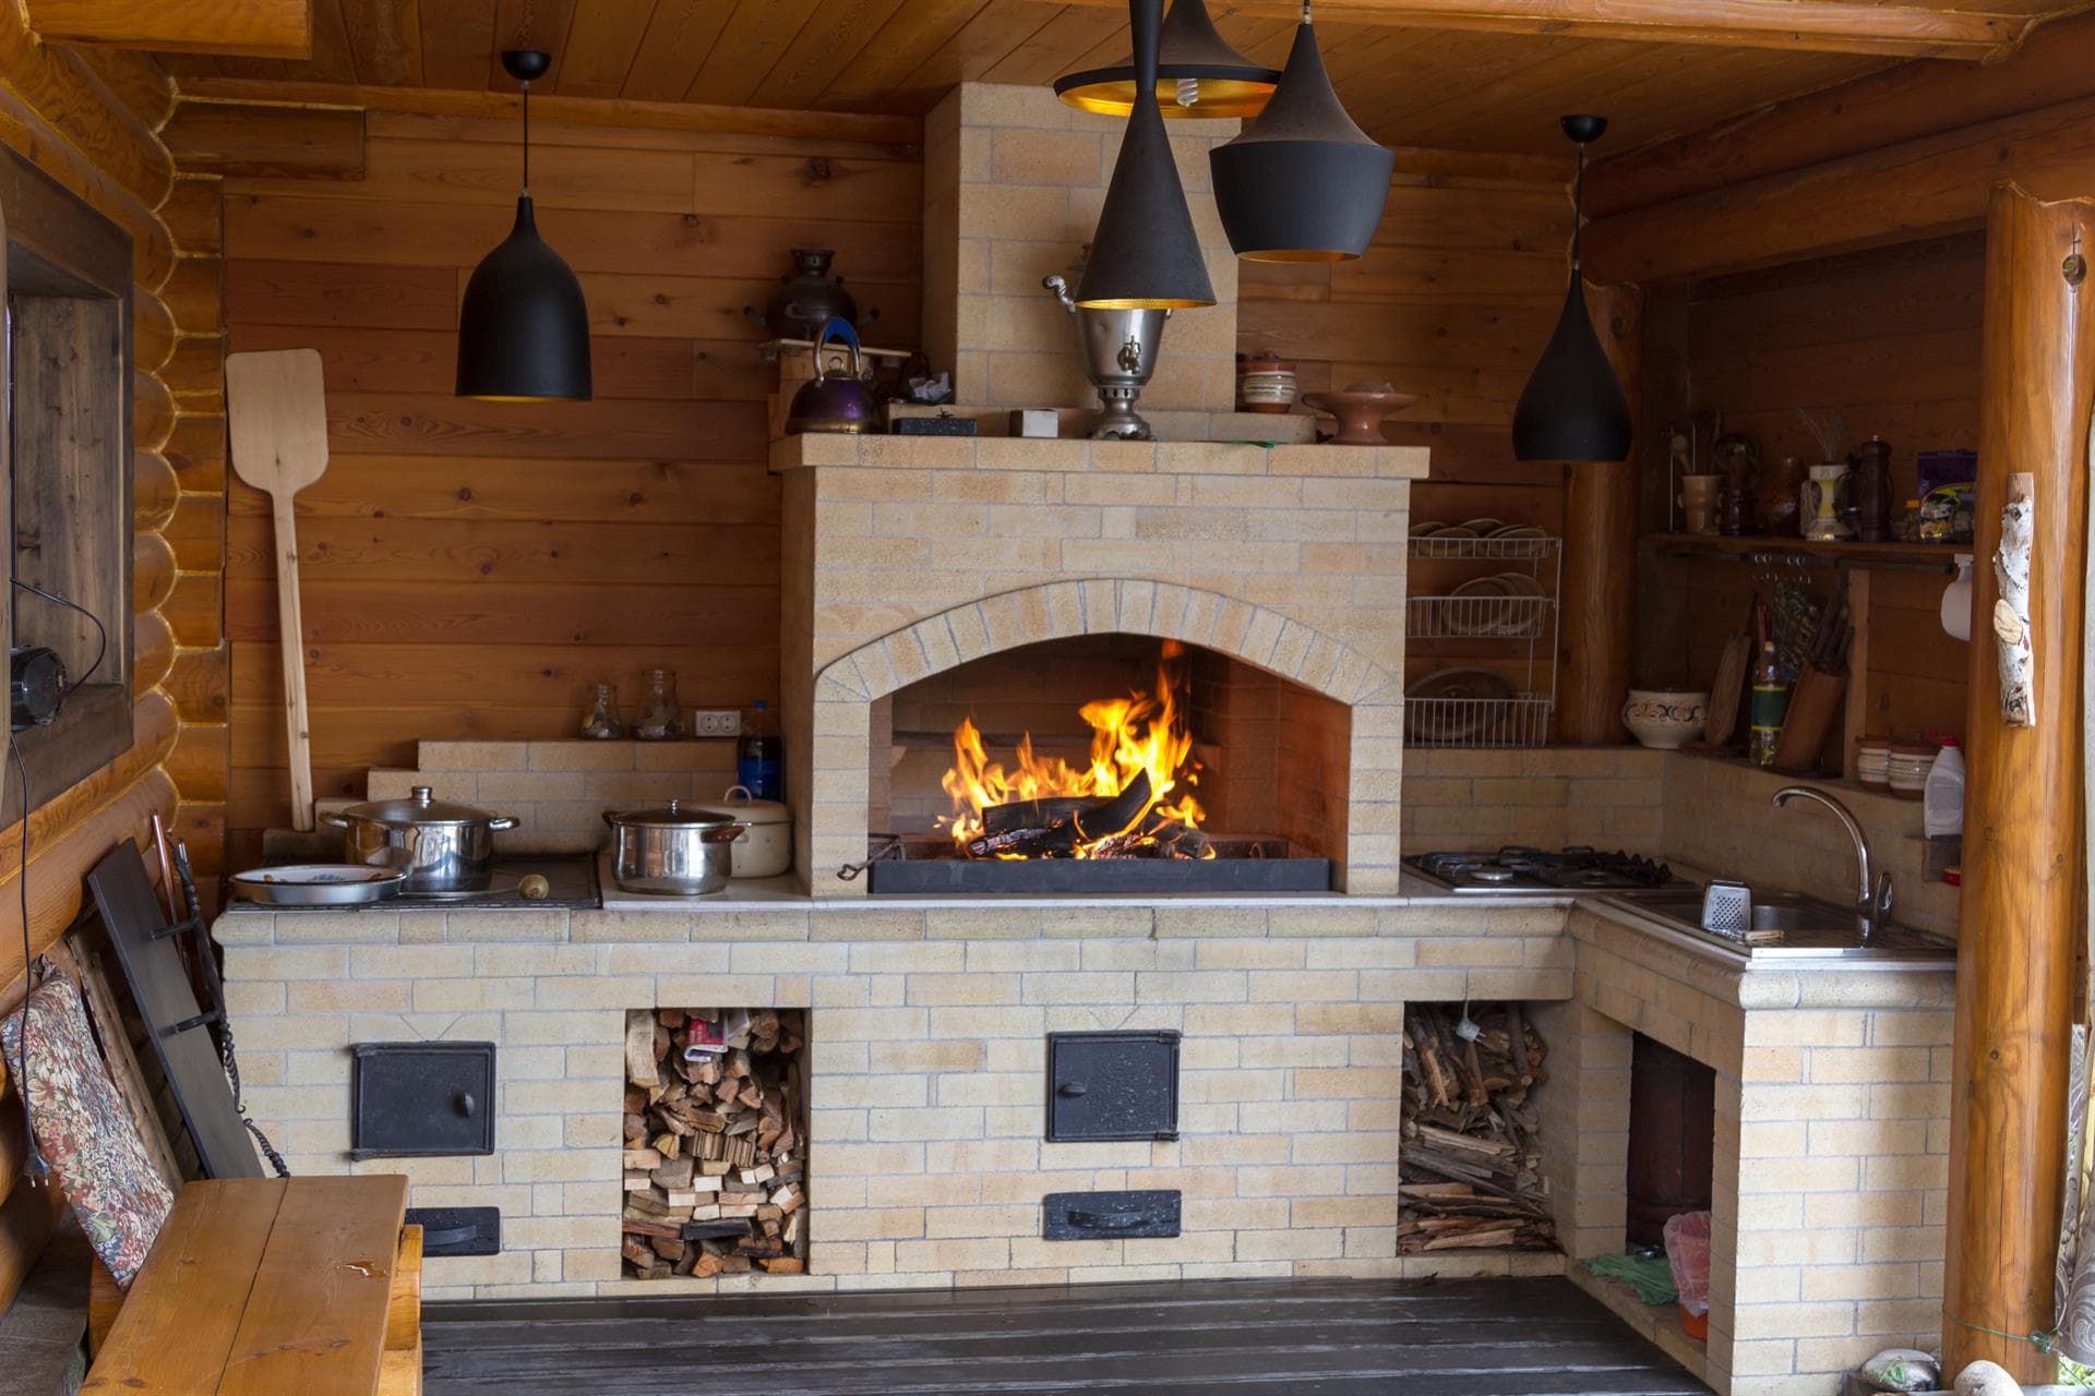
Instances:
[[[1527,1101],[1546,1055],[1519,1005],[1406,1005],[1399,1254],[1554,1249]]]

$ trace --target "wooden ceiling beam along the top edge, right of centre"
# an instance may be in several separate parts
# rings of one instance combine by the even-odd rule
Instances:
[[[1071,2],[1125,8],[1125,0]],[[1299,13],[1295,0],[1242,0],[1232,8],[1255,17]],[[2013,52],[2034,23],[2028,15],[1850,0],[1320,0],[1316,17],[1347,25],[1967,61]]]

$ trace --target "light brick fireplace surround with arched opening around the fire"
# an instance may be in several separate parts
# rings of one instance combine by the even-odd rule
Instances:
[[[1343,887],[1395,890],[1404,538],[1425,452],[802,435],[771,463],[788,517],[817,521],[809,571],[786,586],[788,747],[809,751],[788,781],[800,866],[865,858],[874,701],[1018,645],[1119,632],[1349,705]]]

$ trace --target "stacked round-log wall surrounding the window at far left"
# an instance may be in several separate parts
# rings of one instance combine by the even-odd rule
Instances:
[[[224,419],[216,180],[176,178],[159,130],[168,75],[145,57],[36,42],[0,13],[0,140],[132,237],[134,283],[134,741],[29,825],[29,950],[82,906],[82,877],[147,820],[176,820],[205,885],[220,866],[226,666],[220,628]],[[23,992],[21,825],[0,831],[0,1011]],[[0,1308],[42,1252],[57,1189],[23,1187],[21,1103],[0,1090]]]

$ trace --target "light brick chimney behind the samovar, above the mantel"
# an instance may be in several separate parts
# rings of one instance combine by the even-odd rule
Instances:
[[[1091,241],[1121,117],[1062,105],[1043,86],[968,82],[924,117],[924,352],[953,368],[960,402],[1087,404],[1073,316],[1041,289]],[[1236,253],[1215,216],[1207,153],[1236,121],[1175,121],[1171,151],[1215,303],[1165,324],[1142,408],[1228,410],[1236,396]],[[1075,291],[1075,287],[1071,287]]]

